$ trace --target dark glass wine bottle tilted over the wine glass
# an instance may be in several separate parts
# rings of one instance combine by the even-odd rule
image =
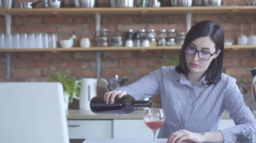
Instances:
[[[103,97],[93,97],[90,101],[90,109],[94,113],[107,113],[107,114],[130,114],[136,108],[151,108],[152,101],[137,101],[131,95],[116,96],[114,103],[106,104]]]

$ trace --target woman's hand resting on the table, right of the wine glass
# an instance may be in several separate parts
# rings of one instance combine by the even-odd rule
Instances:
[[[177,132],[169,135],[167,143],[202,143],[203,135],[201,133],[189,132],[184,129],[178,130]]]

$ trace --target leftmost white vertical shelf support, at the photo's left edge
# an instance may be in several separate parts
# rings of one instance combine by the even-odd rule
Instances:
[[[9,14],[0,12],[3,16],[6,18],[6,34],[11,34],[11,28],[12,28],[12,17]],[[7,79],[10,79],[10,65],[11,65],[11,53],[6,53],[6,74]]]

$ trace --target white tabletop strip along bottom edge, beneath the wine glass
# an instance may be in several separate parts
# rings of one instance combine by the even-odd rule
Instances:
[[[157,143],[166,143],[166,138],[157,138]],[[153,139],[119,139],[119,138],[104,138],[104,139],[85,139],[83,143],[153,143]]]

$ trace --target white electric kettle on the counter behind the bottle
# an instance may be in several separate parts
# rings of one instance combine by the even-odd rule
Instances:
[[[98,79],[84,78],[76,83],[81,84],[80,97],[73,94],[73,97],[79,100],[80,110],[90,110],[90,100],[97,96],[97,81]]]

